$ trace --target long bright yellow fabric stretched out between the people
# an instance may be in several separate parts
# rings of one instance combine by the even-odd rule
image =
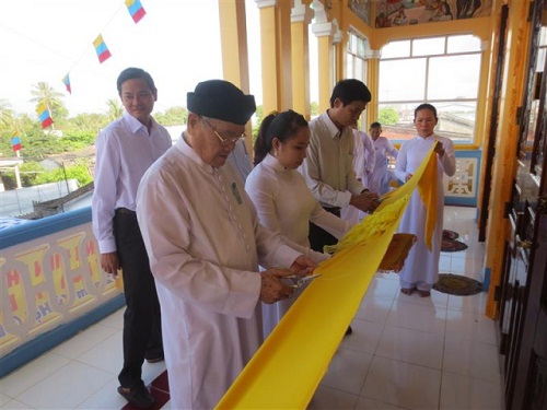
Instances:
[[[304,409],[328,368],[431,157],[356,225],[232,384],[218,409]],[[434,156],[434,155],[433,155]]]

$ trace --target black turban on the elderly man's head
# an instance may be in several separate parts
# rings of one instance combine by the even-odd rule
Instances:
[[[256,110],[255,97],[224,80],[209,80],[186,95],[190,113],[244,126]]]

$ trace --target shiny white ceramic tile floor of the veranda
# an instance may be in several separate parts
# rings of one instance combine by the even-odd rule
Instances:
[[[443,253],[441,272],[482,280],[475,216],[474,208],[445,208],[444,229],[468,249]],[[485,303],[486,293],[403,295],[396,274],[377,273],[309,408],[503,409],[497,325]],[[2,378],[0,408],[121,409],[121,321],[116,312]],[[144,382],[164,370],[146,363]]]

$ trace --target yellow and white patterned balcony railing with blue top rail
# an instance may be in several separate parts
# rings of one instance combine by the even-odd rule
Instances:
[[[119,295],[91,208],[9,227],[0,243],[0,358]]]

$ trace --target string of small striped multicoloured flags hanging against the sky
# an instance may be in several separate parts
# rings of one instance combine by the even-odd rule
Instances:
[[[142,17],[147,14],[147,11],[142,7],[140,0],[125,0],[125,5],[129,15],[133,20],[135,24],[139,23]],[[105,62],[108,58],[112,57],[110,50],[106,46],[106,43],[103,38],[102,34],[93,40],[93,47],[95,48],[95,52],[97,55],[97,59],[100,63]],[[62,83],[67,89],[69,94],[72,94],[72,86],[70,83],[70,71],[62,78]],[[54,124],[54,119],[51,118],[51,114],[49,113],[48,107],[45,104],[38,104],[36,107],[36,114],[38,115],[38,119],[42,124],[42,128],[46,129],[47,127]],[[18,152],[21,150],[21,136],[19,131],[14,131],[12,133],[11,145],[13,152]]]

